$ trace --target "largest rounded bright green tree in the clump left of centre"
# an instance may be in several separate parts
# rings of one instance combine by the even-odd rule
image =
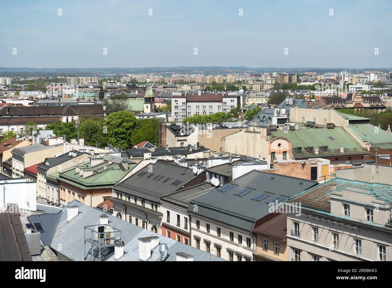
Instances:
[[[136,127],[136,121],[136,117],[130,111],[109,114],[105,120],[107,144],[123,150],[131,148],[131,134]]]

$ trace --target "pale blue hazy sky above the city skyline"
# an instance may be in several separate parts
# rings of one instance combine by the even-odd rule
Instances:
[[[1,2],[0,67],[392,67],[390,0]]]

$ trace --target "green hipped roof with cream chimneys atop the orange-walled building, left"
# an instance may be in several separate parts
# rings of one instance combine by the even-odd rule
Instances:
[[[107,165],[107,169],[103,169],[103,165]],[[87,168],[91,168],[91,162],[84,164]],[[78,165],[80,166],[80,165]],[[136,166],[134,164],[128,164],[128,170],[125,170],[120,164],[112,163],[108,164],[107,161],[104,163],[95,165],[92,167],[94,170],[93,175],[83,178],[79,176],[79,173],[75,173],[75,167],[69,168],[62,172],[56,172],[46,176],[51,179],[58,179],[59,181],[74,185],[82,189],[97,189],[97,188],[109,188],[113,187],[125,174],[132,170]]]

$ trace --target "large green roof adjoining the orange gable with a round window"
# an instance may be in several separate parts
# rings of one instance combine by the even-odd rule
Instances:
[[[329,150],[340,149],[340,147],[348,149],[360,149],[361,145],[355,141],[354,138],[348,134],[343,127],[335,127],[333,129],[328,128],[310,128],[310,129],[298,129],[298,130],[287,130],[287,133],[283,130],[271,131],[271,136],[283,137],[291,139],[292,148],[297,147],[323,147],[328,146]],[[331,136],[334,140],[329,139]]]

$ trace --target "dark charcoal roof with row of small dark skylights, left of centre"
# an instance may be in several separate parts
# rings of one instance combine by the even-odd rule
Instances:
[[[152,172],[149,172],[151,168]],[[146,173],[143,176],[139,176],[141,172]],[[151,178],[147,178],[150,176]],[[156,176],[163,176],[163,178],[156,181],[154,180]],[[154,164],[147,165],[136,174],[118,183],[113,187],[113,189],[158,202],[161,196],[181,189],[183,185],[187,184],[197,176],[198,175],[193,173],[190,168],[157,161]],[[163,183],[166,178],[171,179],[169,179],[166,183]],[[182,182],[177,186],[172,185],[172,183],[176,180],[180,180]]]

